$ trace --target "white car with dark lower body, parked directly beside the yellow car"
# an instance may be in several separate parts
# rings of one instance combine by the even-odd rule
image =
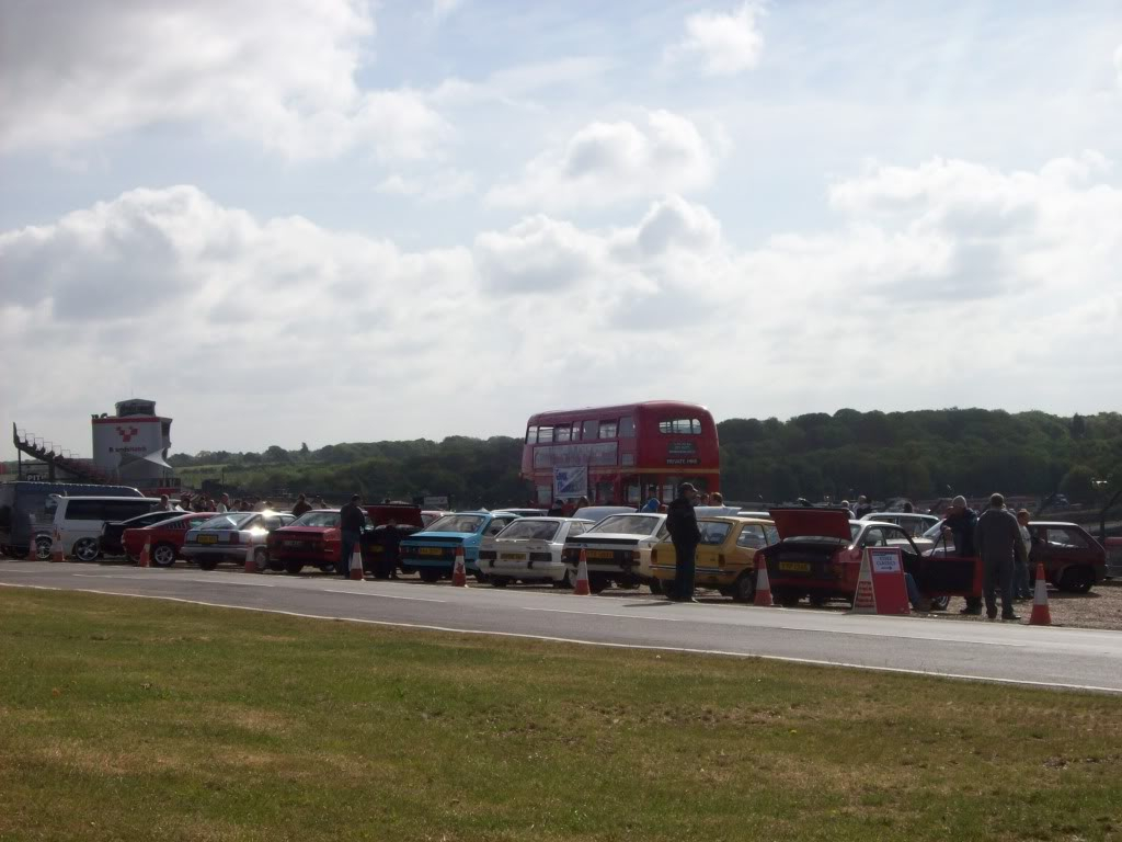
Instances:
[[[620,587],[650,585],[657,593],[660,585],[651,570],[651,549],[662,540],[665,522],[664,514],[634,511],[610,514],[583,534],[565,541],[564,562],[576,578],[580,551],[585,550],[592,593],[598,594],[613,582]]]

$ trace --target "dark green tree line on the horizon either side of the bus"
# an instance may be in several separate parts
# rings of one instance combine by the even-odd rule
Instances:
[[[721,486],[737,501],[838,501],[865,494],[913,500],[993,491],[1063,493],[1094,503],[1122,484],[1122,414],[1070,418],[1045,412],[949,409],[916,412],[810,413],[729,419],[718,424]],[[453,496],[458,505],[522,504],[522,440],[278,445],[261,452],[202,451],[169,461],[185,484],[202,479],[256,494],[306,491],[339,498]]]

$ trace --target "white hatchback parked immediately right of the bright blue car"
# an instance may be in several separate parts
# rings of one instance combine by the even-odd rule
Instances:
[[[576,518],[523,518],[479,544],[479,570],[495,587],[512,582],[551,582],[572,587],[562,559],[564,542],[587,532],[592,521]]]

